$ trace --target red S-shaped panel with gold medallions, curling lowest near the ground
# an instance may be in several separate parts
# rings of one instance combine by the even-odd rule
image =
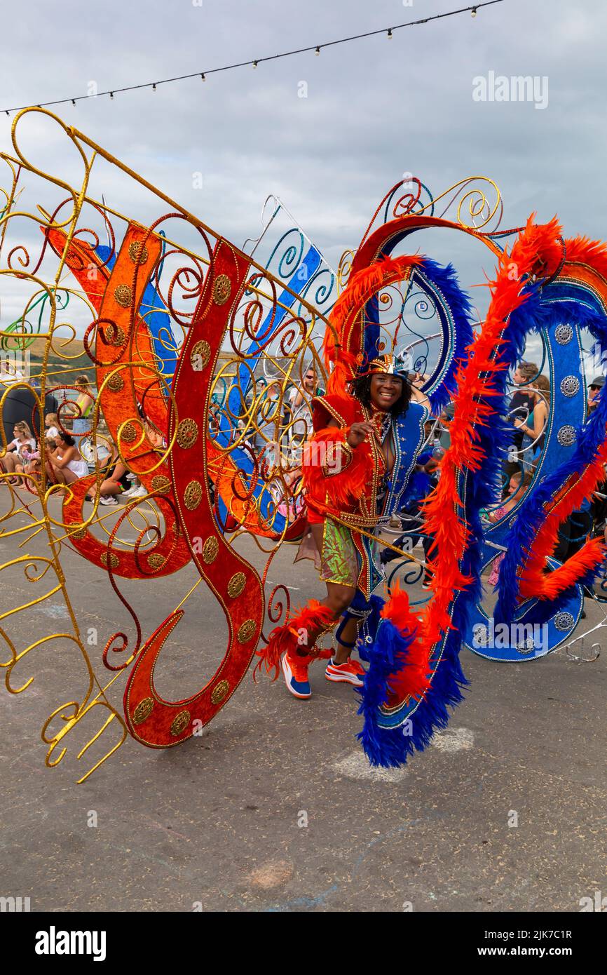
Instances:
[[[230,315],[245,284],[247,269],[245,255],[235,252],[225,241],[217,244],[177,363],[169,429],[170,439],[175,434],[170,461],[179,521],[191,558],[226,615],[229,644],[209,683],[183,701],[161,698],[153,680],[160,651],[183,615],[182,610],[171,613],[143,646],[127,684],[125,718],[133,738],[150,748],[178,745],[190,738],[195,728],[211,721],[245,677],[261,633],[264,614],[261,580],[254,568],[228,545],[217,526],[209,498],[207,437],[194,438],[195,429],[209,430],[213,369]],[[226,292],[229,294],[223,300]],[[200,349],[203,341],[209,346],[209,356],[201,362],[193,350]],[[185,419],[192,422],[181,426]]]

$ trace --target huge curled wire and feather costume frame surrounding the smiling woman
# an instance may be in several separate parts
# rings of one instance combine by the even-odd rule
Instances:
[[[23,147],[28,126],[31,151]],[[53,127],[56,152],[65,140],[59,175],[35,162],[44,158],[45,126]],[[129,737],[151,748],[182,744],[226,706],[272,628],[296,618],[288,587],[268,580],[276,553],[306,525],[305,437],[294,435],[287,390],[310,398],[303,383],[310,366],[331,389],[352,377],[353,363],[408,357],[427,410],[420,449],[440,454],[436,486],[418,479],[415,487],[423,519],[410,533],[433,538],[428,557],[402,538],[395,545],[401,533],[388,518],[366,528],[398,556],[360,632],[368,661],[360,738],[369,761],[405,761],[446,725],[466,683],[462,647],[492,661],[531,661],[579,639],[574,631],[603,542],[588,537],[562,563],[553,550],[559,526],[604,480],[607,399],[603,388],[588,415],[584,352],[588,340],[604,348],[607,334],[605,245],[566,237],[556,218],[530,216],[524,226],[501,229],[500,193],[484,177],[434,195],[411,176],[385,196],[358,248],[333,271],[288,223],[280,201],[269,200],[261,237],[238,247],[45,110],[19,113],[13,150],[0,158],[0,288],[12,319],[0,331],[3,354],[24,354],[34,341],[42,349],[39,366],[3,389],[2,407],[23,391],[30,426],[40,429],[51,396],[69,429],[64,394],[74,384],[70,362],[80,341],[97,391],[88,477],[57,485],[43,465],[15,487],[1,475],[2,535],[22,550],[0,565],[3,592],[27,591],[0,614],[7,690],[26,692],[41,653],[61,648],[72,659],[76,689],[53,702],[42,728],[48,765],[61,761],[83,722],[78,759],[86,761],[95,743],[107,747],[81,782]],[[119,182],[123,197],[131,188],[133,199],[134,189],[145,192],[153,221],[105,202],[104,186]],[[450,231],[454,254],[466,235],[479,265],[488,256],[495,266],[482,320],[454,267],[419,253],[417,232],[428,240],[438,228]],[[541,343],[539,371],[550,378],[548,423],[528,462],[528,489],[508,515],[491,519],[512,444],[512,371],[530,336]],[[99,506],[112,453],[146,490],[118,511]],[[243,546],[250,539],[257,567]],[[98,648],[87,643],[63,568],[67,549],[94,565],[127,607],[131,635],[108,633]],[[499,557],[487,601],[483,576]],[[146,633],[121,586],[154,586],[185,566],[198,581]],[[431,581],[420,596],[414,587],[422,573]],[[155,667],[205,589],[225,614],[227,645],[198,692],[166,699]],[[592,594],[601,599],[596,587]],[[63,601],[62,630],[23,641],[21,615],[51,598]],[[490,634],[502,624],[514,637],[496,645]]]

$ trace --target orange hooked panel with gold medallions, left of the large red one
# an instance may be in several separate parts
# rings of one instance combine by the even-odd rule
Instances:
[[[61,254],[65,245],[62,231],[50,231],[49,241],[57,254]],[[141,260],[134,263],[135,253],[146,254],[145,263]],[[131,552],[121,553],[115,574],[129,579],[169,575],[190,560],[188,546],[175,517],[171,492],[167,490],[171,478],[169,465],[166,462],[158,463],[159,453],[147,437],[137,410],[137,401],[141,402],[146,388],[143,383],[149,387],[157,382],[150,334],[144,321],[136,314],[136,309],[160,253],[159,239],[145,228],[131,224],[111,273],[95,250],[82,241],[70,244],[66,258],[68,267],[87,292],[98,314],[95,330],[98,408],[121,456],[141,484],[154,494],[154,502],[166,525],[165,533],[153,553],[146,553],[147,558],[136,558]],[[92,267],[95,267],[95,274],[91,274]],[[100,282],[105,283],[104,287]],[[121,363],[125,364],[122,369]],[[149,403],[146,402],[146,406]],[[163,409],[166,417],[167,408]],[[153,419],[158,422],[160,416],[155,415]],[[166,419],[161,422],[166,426]],[[66,526],[79,526],[86,521],[84,496],[94,485],[95,476],[72,485],[71,492],[66,494],[63,502]],[[83,538],[72,533],[70,541],[86,559],[99,564],[105,545],[92,532],[87,531]]]

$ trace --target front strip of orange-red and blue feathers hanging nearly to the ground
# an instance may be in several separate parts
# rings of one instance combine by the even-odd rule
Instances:
[[[469,479],[473,486],[470,492],[472,500],[467,498],[468,507],[465,507],[457,493],[458,477],[464,472],[474,475],[484,467],[488,456],[491,459],[492,441],[485,430],[490,433],[491,425],[499,420],[503,401],[505,370],[508,368],[504,357],[507,323],[512,309],[527,299],[521,284],[520,268],[529,268],[528,273],[554,273],[562,257],[557,240],[559,231],[555,219],[536,226],[531,216],[525,231],[514,243],[512,254],[505,252],[501,255],[496,281],[490,285],[492,300],[484,326],[469,347],[468,361],[458,369],[455,412],[450,424],[451,443],[440,462],[438,485],[424,503],[425,530],[436,539],[438,552],[436,561],[431,564],[434,570],[431,583],[434,595],[424,609],[421,625],[410,609],[400,604],[400,628],[397,632],[401,636],[406,634],[406,637],[402,637],[406,647],[400,645],[395,651],[390,645],[394,639],[389,631],[385,635],[388,650],[378,657],[379,680],[373,681],[367,677],[362,691],[360,710],[365,723],[360,737],[372,762],[400,763],[405,761],[413,747],[424,748],[432,739],[434,730],[444,727],[446,705],[456,704],[462,698],[460,686],[466,681],[458,658],[460,633],[464,629],[469,608],[479,594],[477,552],[481,528],[477,509],[482,501],[489,500],[488,496],[483,496],[489,487],[477,484],[483,479]],[[512,274],[512,265],[518,266],[518,273]],[[448,512],[453,512],[454,517],[450,517]],[[456,598],[458,590],[463,591],[459,599]],[[384,623],[380,626],[378,636],[384,626]],[[432,684],[423,692],[414,711],[414,736],[405,737],[401,728],[379,727],[376,708],[382,703],[395,707],[404,702],[409,693],[410,680],[405,661],[414,660],[418,673],[427,676],[431,672],[431,654],[441,644],[442,655],[436,664]],[[396,670],[391,674],[382,672],[382,668],[385,670],[389,667],[390,654],[395,656],[395,652]],[[385,695],[383,701],[379,700],[382,692]],[[371,706],[372,701],[375,711]]]

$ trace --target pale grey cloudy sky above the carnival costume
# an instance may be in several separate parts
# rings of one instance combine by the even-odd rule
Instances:
[[[29,0],[11,20],[0,108],[158,81],[455,9],[456,0]],[[607,234],[604,0],[504,0],[479,10],[151,90],[54,109],[66,122],[241,245],[280,196],[334,265],[356,247],[403,173],[435,194],[470,175],[500,186],[503,226],[557,213],[567,234]],[[533,100],[474,100],[474,79],[536,76]],[[542,82],[548,79],[548,82]],[[305,82],[307,88],[302,89]],[[548,89],[546,85],[548,84]],[[307,97],[299,97],[306,91]],[[538,90],[539,91],[539,90]],[[10,149],[12,117],[0,115]],[[33,135],[32,135],[33,134]],[[65,141],[30,130],[28,151],[70,174]],[[202,188],[200,178],[202,175]],[[101,177],[99,177],[101,178]],[[126,180],[101,187],[118,210],[160,215]],[[452,259],[466,287],[491,271],[458,235],[415,247]],[[475,294],[479,307],[484,299]]]

